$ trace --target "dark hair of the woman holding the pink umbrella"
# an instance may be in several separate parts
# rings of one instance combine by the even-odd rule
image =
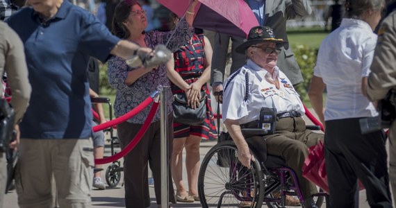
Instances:
[[[115,6],[113,24],[111,32],[122,39],[128,38],[131,33],[129,33],[128,28],[124,26],[123,22],[128,19],[129,14],[131,13],[131,8],[138,4],[138,1],[135,0],[125,0],[120,1],[117,6]]]

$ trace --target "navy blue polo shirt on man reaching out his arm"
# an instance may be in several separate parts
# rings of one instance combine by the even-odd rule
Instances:
[[[63,1],[43,23],[33,8],[7,20],[24,42],[31,101],[21,138],[78,139],[92,134],[87,66],[90,56],[106,62],[119,38],[78,6]]]

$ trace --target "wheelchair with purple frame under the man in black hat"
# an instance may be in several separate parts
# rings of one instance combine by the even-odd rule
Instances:
[[[320,130],[317,126],[307,128]],[[267,135],[261,129],[242,128],[242,132],[244,135],[245,132]],[[221,137],[228,139],[208,151],[199,170],[198,192],[202,207],[240,207],[241,202],[249,202],[249,207],[256,208],[262,207],[263,203],[270,208],[288,207],[286,196],[296,196],[304,207],[297,176],[281,157],[267,155],[265,161],[259,161],[258,154],[252,151],[255,161],[248,169],[238,161],[238,148],[231,137],[228,133],[222,134]],[[320,189],[313,200],[317,207],[321,207],[324,198],[329,202],[328,197]]]

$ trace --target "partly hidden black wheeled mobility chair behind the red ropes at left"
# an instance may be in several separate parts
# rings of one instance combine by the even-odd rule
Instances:
[[[106,97],[97,97],[97,98],[91,98],[91,103],[102,103],[108,105],[108,112],[109,112],[109,120],[111,121],[113,119],[113,107],[110,102],[110,98]],[[98,118],[95,118],[94,120],[97,121]],[[97,121],[99,123],[99,121]],[[115,136],[114,128],[108,128],[105,129],[104,132],[110,132],[110,152],[111,155],[115,155],[117,152],[115,151],[115,148],[119,148],[119,139],[118,137]],[[94,171],[102,171],[102,170],[94,170]],[[108,187],[110,188],[115,188],[119,184],[119,181],[121,180],[121,172],[124,171],[124,168],[121,166],[121,162],[118,160],[110,164],[105,173],[105,178],[106,178],[106,183],[108,184]]]

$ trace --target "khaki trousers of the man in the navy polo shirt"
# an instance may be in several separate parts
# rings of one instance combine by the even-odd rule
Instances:
[[[62,208],[90,207],[92,139],[21,139],[15,172],[21,208],[53,207],[52,176]]]

